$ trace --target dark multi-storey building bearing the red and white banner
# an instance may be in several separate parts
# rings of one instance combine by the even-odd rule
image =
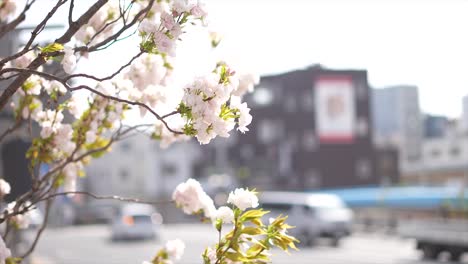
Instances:
[[[385,179],[377,173],[379,157],[390,154],[376,155],[372,145],[369,97],[364,70],[310,67],[262,77],[245,98],[254,117],[250,131],[224,147],[216,147],[219,140],[203,147],[206,157],[228,154],[214,166],[207,159],[198,175],[206,175],[206,167],[228,167],[243,185],[285,190],[393,182],[398,173],[387,165],[397,161],[384,166]]]

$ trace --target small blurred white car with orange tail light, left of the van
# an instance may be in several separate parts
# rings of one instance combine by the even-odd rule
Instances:
[[[162,216],[152,206],[124,205],[111,223],[113,241],[125,239],[155,239],[162,224]]]

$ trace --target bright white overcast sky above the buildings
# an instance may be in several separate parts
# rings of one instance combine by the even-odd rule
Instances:
[[[188,35],[178,48],[182,72],[201,73],[208,67],[200,67],[200,62],[214,57],[226,58],[238,68],[260,75],[317,63],[331,69],[366,69],[373,88],[416,85],[424,112],[449,117],[461,114],[461,98],[468,94],[468,1],[205,3],[210,28],[224,36],[223,42],[213,55],[208,53],[202,33]],[[137,48],[137,43],[125,45],[130,46],[121,47],[121,51]],[[106,62],[115,65],[133,56],[125,52],[115,56],[115,49],[111,52],[103,56],[112,54]]]

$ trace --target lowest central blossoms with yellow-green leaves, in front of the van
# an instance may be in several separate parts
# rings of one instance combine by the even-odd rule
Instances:
[[[296,249],[298,240],[287,234],[287,230],[292,228],[286,224],[287,217],[278,216],[270,218],[268,224],[263,223],[262,219],[268,211],[254,209],[259,206],[255,191],[237,188],[227,200],[232,207],[216,209],[200,183],[189,179],[176,187],[172,198],[185,213],[204,214],[220,233],[219,242],[204,251],[204,264],[266,263],[270,257],[268,250],[272,247],[284,251]],[[221,238],[224,224],[232,224],[232,227]]]

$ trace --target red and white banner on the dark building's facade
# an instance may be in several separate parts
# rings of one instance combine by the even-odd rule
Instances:
[[[315,82],[315,126],[320,143],[352,143],[356,107],[350,76],[321,76]]]

